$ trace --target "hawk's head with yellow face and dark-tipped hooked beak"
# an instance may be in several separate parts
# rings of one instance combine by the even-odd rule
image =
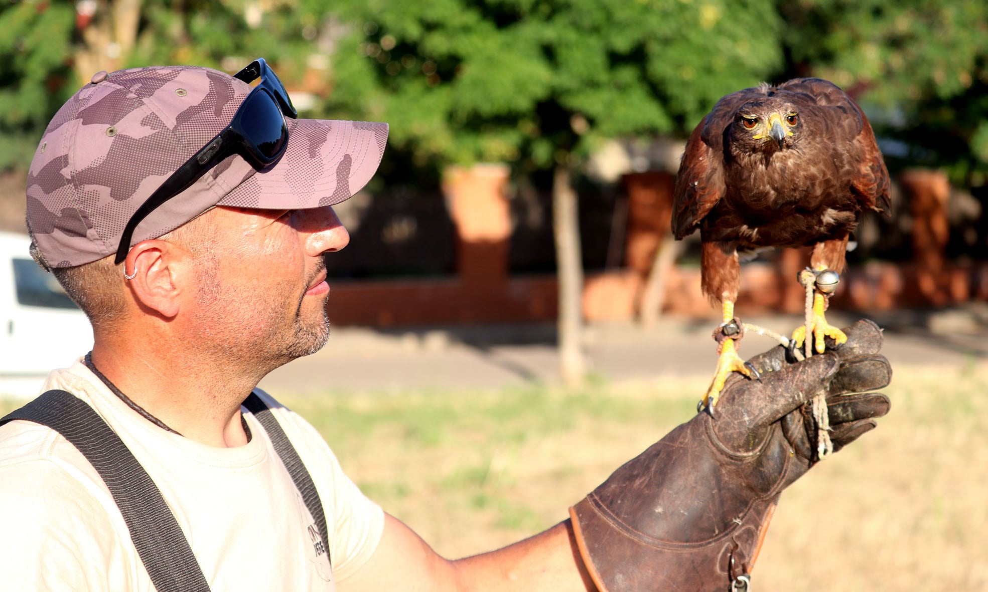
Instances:
[[[749,101],[734,111],[728,136],[735,149],[775,152],[792,146],[801,126],[794,105],[766,97]]]

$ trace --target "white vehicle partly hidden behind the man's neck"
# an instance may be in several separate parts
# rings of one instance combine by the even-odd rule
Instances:
[[[93,348],[93,330],[26,235],[0,232],[0,378],[45,376]],[[3,388],[0,386],[0,391]]]

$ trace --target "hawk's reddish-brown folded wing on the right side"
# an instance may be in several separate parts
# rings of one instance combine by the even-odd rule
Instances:
[[[829,121],[832,133],[843,133],[859,159],[851,189],[861,198],[863,207],[887,214],[889,180],[885,161],[874,139],[871,124],[858,104],[837,85],[819,78],[794,78],[777,87],[780,94],[794,93],[796,103],[812,103],[824,108],[820,115]],[[836,138],[834,138],[836,139]]]

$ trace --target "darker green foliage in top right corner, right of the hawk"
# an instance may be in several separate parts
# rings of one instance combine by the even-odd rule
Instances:
[[[829,78],[904,140],[905,164],[961,185],[988,173],[988,4],[980,0],[780,3],[788,69]]]

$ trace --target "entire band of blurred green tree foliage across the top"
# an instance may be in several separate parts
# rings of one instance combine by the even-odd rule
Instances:
[[[82,18],[84,6],[92,15]],[[96,69],[265,55],[336,89],[319,112],[386,119],[438,162],[584,153],[684,133],[724,93],[817,75],[862,100],[907,157],[988,169],[988,8],[978,0],[0,0],[0,170]],[[263,10],[262,10],[263,7]],[[120,13],[138,13],[130,27]],[[97,35],[100,33],[101,35]],[[113,45],[116,44],[116,45]],[[112,46],[111,46],[112,45]],[[979,173],[980,172],[980,173]]]

